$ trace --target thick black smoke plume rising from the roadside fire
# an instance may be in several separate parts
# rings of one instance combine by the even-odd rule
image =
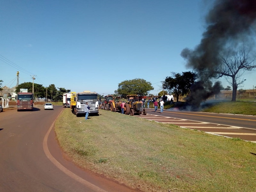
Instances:
[[[255,0],[216,0],[212,9],[206,15],[207,28],[203,38],[194,50],[185,48],[181,56],[187,61],[187,67],[193,68],[202,81],[198,82],[192,89],[198,89],[203,96],[209,97],[220,90],[209,89],[211,84],[208,79],[214,76],[214,70],[220,65],[220,55],[237,51],[239,45],[246,47],[255,45],[254,37],[256,31],[256,1]],[[199,86],[200,84],[200,86]],[[220,89],[219,83],[215,83],[212,89]],[[209,91],[211,90],[211,91]],[[198,94],[191,90],[191,94]],[[201,100],[207,98],[200,97]],[[190,96],[188,101],[199,99]],[[200,101],[198,101],[200,103]],[[196,102],[196,103],[198,103]]]

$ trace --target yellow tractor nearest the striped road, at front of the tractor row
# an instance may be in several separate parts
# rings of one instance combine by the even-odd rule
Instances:
[[[124,104],[124,114],[126,115],[147,115],[147,109],[142,107],[142,101],[139,101],[138,95],[127,95],[127,102]]]

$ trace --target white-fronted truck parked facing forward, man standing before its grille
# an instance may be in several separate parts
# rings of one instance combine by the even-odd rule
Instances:
[[[72,92],[75,93],[75,92]],[[75,93],[76,97],[74,97],[74,101],[76,102],[76,106],[71,105],[72,112],[79,116],[79,114],[84,114],[84,104],[88,102],[88,105],[90,106],[90,114],[98,114],[99,113],[99,101],[98,101],[98,93],[96,92],[90,92],[90,91],[84,91]],[[72,95],[73,97],[73,95]]]

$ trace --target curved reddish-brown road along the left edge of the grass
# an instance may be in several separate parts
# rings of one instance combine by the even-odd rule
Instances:
[[[136,191],[82,170],[65,157],[53,131],[62,109],[40,106],[0,113],[0,191]]]

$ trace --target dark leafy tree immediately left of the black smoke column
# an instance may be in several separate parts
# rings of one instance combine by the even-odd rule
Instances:
[[[172,76],[165,78],[163,87],[174,93],[177,101],[179,101],[180,95],[185,95],[189,92],[189,88],[195,83],[197,75],[191,71],[182,72],[182,74],[171,72],[171,74]]]

